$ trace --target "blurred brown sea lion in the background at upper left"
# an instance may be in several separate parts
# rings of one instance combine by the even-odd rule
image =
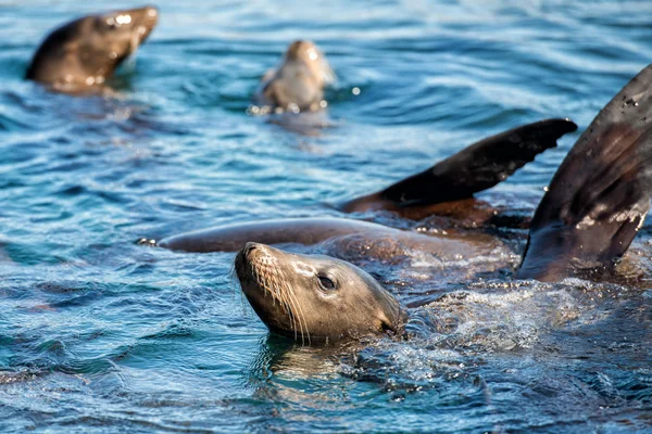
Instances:
[[[70,22],[43,40],[26,78],[62,92],[95,92],[147,39],[158,20],[156,8],[145,7]]]

